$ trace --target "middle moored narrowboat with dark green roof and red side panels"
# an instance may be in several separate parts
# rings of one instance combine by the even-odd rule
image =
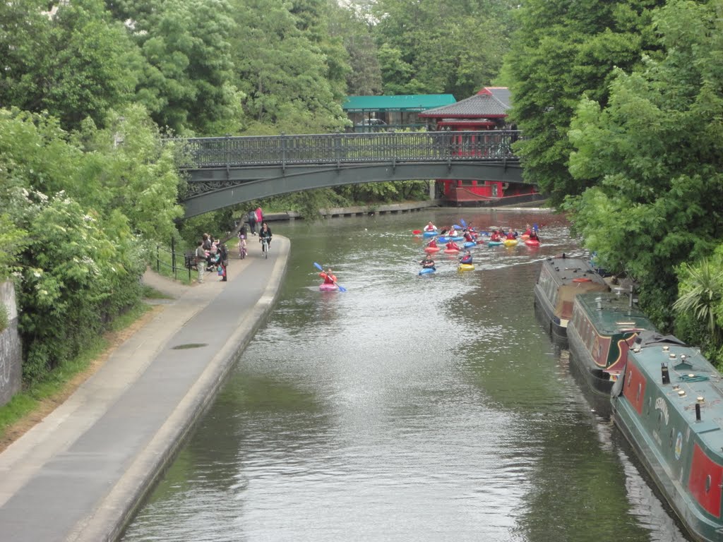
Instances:
[[[581,293],[573,301],[568,343],[573,363],[596,393],[610,395],[625,368],[628,349],[643,330],[656,331],[633,306],[633,295],[621,292]]]

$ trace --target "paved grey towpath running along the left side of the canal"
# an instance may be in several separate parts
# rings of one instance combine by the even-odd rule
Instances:
[[[265,322],[289,242],[268,259],[249,242],[228,282],[193,286],[147,272],[174,299],[94,375],[0,454],[0,540],[114,541]]]

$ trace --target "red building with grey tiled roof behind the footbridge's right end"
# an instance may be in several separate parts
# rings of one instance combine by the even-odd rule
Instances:
[[[479,93],[435,109],[419,113],[419,119],[427,119],[429,129],[434,131],[450,130],[450,132],[476,132],[489,130],[482,148],[494,148],[505,137],[516,137],[516,134],[502,134],[502,129],[514,130],[508,126],[507,116],[510,109],[510,90],[507,87],[484,87]],[[497,131],[497,132],[496,132]],[[454,140],[458,147],[464,147],[463,138],[459,134]],[[473,142],[476,148],[478,142]],[[500,205],[534,201],[542,199],[534,186],[529,184],[505,183],[489,180],[437,179],[441,185],[442,197],[449,205],[474,207],[481,205]]]

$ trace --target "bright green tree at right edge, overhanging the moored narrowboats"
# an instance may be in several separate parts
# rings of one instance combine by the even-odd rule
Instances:
[[[723,233],[723,23],[720,0],[671,1],[656,14],[664,55],[615,72],[607,107],[583,100],[570,172],[600,178],[569,200],[603,267],[641,284],[641,304],[672,327],[675,267],[708,257]]]

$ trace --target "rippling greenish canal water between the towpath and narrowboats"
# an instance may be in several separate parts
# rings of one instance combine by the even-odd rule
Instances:
[[[418,276],[427,220],[542,227]],[[281,296],[122,540],[686,541],[536,321],[559,216],[445,209],[275,223]],[[313,263],[346,293],[318,291]],[[233,272],[233,267],[231,267]]]

